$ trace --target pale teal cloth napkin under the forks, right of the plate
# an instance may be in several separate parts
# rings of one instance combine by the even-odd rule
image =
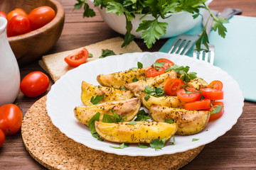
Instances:
[[[228,30],[225,38],[213,30],[210,32],[209,42],[215,45],[214,65],[238,81],[245,100],[256,102],[256,18],[233,16],[225,27]],[[196,35],[201,30],[202,24],[198,23],[185,34]],[[167,40],[159,51],[168,52],[175,39]],[[193,49],[186,55],[192,57]]]

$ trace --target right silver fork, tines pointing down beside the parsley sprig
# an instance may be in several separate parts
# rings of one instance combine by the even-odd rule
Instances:
[[[220,18],[230,18],[231,16],[234,16],[235,14],[239,14],[239,13],[242,13],[242,11],[240,9],[237,9],[237,8],[225,8],[218,17]],[[209,16],[209,13],[206,15]],[[203,18],[203,19],[206,19],[206,18]],[[208,24],[207,28],[206,28],[206,33],[207,35],[209,35],[210,33],[210,30],[211,30],[211,26],[212,26],[212,22],[213,22],[213,18],[210,17],[209,18],[209,21],[211,20],[211,24]],[[209,22],[208,21],[208,22]],[[203,21],[204,22],[207,22],[206,21]],[[194,46],[194,50],[193,50],[193,57],[194,58],[197,58],[198,60],[204,60],[206,62],[210,62],[210,64],[213,64],[214,62],[214,52],[215,52],[215,46],[212,45],[212,44],[208,44],[209,46],[209,49],[207,51],[206,49],[206,46],[205,45],[201,45],[201,50],[200,51],[197,51],[196,50],[196,45]],[[209,61],[210,59],[210,61]]]

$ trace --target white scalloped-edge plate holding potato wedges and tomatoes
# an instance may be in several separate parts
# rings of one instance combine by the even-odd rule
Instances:
[[[176,135],[175,145],[168,143],[163,149],[157,151],[150,147],[142,149],[138,145],[130,145],[130,147],[124,149],[114,149],[110,145],[119,146],[119,144],[101,142],[92,137],[89,128],[78,122],[73,113],[75,106],[83,106],[80,99],[82,81],[84,80],[90,84],[98,85],[96,80],[98,74],[110,74],[124,71],[131,67],[137,67],[138,61],[142,62],[144,67],[146,67],[159,58],[167,58],[178,65],[188,65],[191,67],[190,72],[197,72],[198,77],[202,77],[208,83],[215,79],[222,81],[224,91],[223,103],[225,106],[224,115],[220,119],[208,123],[206,128],[196,135]],[[53,125],[76,142],[92,149],[113,154],[151,157],[184,152],[188,149],[213,142],[213,140],[224,135],[225,132],[235,125],[242,114],[243,101],[244,98],[242,97],[238,83],[228,73],[218,67],[181,55],[168,55],[163,52],[135,52],[95,60],[70,70],[51,87],[47,95],[46,109]],[[192,142],[193,138],[199,140]]]

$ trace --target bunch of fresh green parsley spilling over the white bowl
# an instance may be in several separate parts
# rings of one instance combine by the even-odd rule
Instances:
[[[76,0],[75,9],[84,9],[83,17],[95,16],[95,11],[93,11],[90,6],[88,6],[86,0]],[[151,48],[152,45],[159,40],[161,35],[166,34],[166,27],[168,23],[159,22],[159,18],[169,18],[168,13],[178,13],[180,11],[187,11],[188,13],[193,13],[193,18],[200,15],[199,9],[206,8],[210,11],[205,2],[207,0],[95,0],[95,6],[100,6],[100,8],[106,8],[107,13],[115,13],[117,16],[124,14],[126,18],[126,29],[127,33],[124,35],[124,43],[122,47],[128,45],[132,40],[134,40],[134,35],[131,34],[132,30],[132,20],[135,18],[135,14],[142,14],[142,21],[137,28],[137,32],[142,31],[142,38],[146,43],[146,47]],[[143,20],[144,16],[151,15],[154,20]],[[223,23],[228,23],[225,18],[218,18],[213,16],[213,30],[218,30],[218,34],[225,38],[226,28]],[[182,22],[182,21],[181,21]],[[206,24],[207,25],[207,24]],[[208,35],[206,34],[206,26],[203,28],[203,33],[198,41],[196,42],[197,50],[200,50],[201,43],[208,47]]]

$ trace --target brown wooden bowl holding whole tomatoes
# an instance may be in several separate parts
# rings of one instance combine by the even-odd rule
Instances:
[[[8,38],[11,49],[18,61],[18,64],[28,64],[48,52],[63,30],[65,13],[63,7],[56,0],[1,0],[0,11],[9,13],[14,8],[23,8],[29,13],[33,8],[39,6],[50,6],[55,11],[55,18],[37,30],[30,33]]]

